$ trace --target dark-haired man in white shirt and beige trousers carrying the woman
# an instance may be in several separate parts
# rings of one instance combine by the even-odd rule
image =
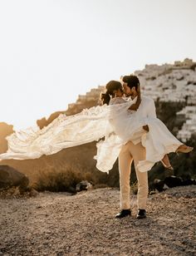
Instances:
[[[124,76],[123,87],[126,96],[130,96],[132,100],[136,100],[138,96],[140,81],[137,76]],[[137,110],[137,114],[140,117],[156,117],[156,111],[154,101],[149,98],[142,96],[141,103]],[[148,174],[146,172],[140,172],[137,169],[137,165],[140,160],[145,160],[145,135],[148,132],[148,126],[141,127],[138,130],[133,139],[128,141],[122,146],[119,155],[119,171],[120,171],[120,213],[115,215],[115,218],[123,218],[131,214],[130,210],[130,168],[131,163],[134,160],[135,172],[138,180],[138,194],[137,204],[138,213],[137,219],[146,218],[146,201],[148,197]]]

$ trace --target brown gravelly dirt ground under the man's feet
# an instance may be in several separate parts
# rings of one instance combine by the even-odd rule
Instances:
[[[115,219],[117,189],[0,194],[0,255],[196,255],[196,186],[149,195],[147,219]]]

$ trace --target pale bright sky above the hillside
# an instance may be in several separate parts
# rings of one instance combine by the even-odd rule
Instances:
[[[65,111],[145,64],[196,61],[196,0],[0,0],[0,121]]]

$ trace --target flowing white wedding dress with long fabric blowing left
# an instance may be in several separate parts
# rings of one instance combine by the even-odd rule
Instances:
[[[174,152],[182,145],[158,118],[140,118],[137,111],[129,111],[133,101],[115,98],[109,106],[94,106],[74,116],[60,115],[47,127],[16,131],[7,137],[8,150],[0,159],[36,159],[51,155],[75,145],[93,140],[97,142],[98,170],[112,169],[122,145],[131,140],[137,130],[148,125],[149,132],[143,135],[146,160],[137,166],[147,171],[165,154]]]

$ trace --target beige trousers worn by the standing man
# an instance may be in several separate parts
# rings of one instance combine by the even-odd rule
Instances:
[[[136,169],[139,160],[145,160],[145,147],[141,143],[134,145],[129,141],[123,145],[119,155],[120,209],[130,209],[130,168],[133,160],[138,180],[138,209],[145,209],[146,207],[149,192],[148,174]]]

